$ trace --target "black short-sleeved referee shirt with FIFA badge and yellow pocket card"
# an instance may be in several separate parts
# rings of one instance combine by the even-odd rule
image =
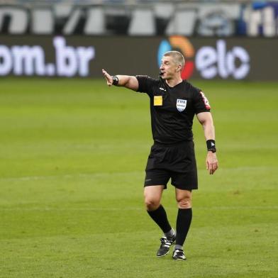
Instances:
[[[138,91],[150,96],[152,138],[155,143],[172,145],[193,140],[194,115],[211,107],[200,89],[183,80],[169,87],[163,79],[137,75]]]

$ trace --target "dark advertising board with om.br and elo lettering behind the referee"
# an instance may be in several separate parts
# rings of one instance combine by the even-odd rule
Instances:
[[[157,76],[164,52],[186,57],[184,79],[277,80],[278,40],[260,38],[0,36],[0,76]]]

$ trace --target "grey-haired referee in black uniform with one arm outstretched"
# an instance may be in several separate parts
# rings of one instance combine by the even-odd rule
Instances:
[[[198,188],[193,118],[196,114],[204,128],[208,153],[206,169],[213,174],[218,168],[215,133],[211,107],[206,96],[186,80],[182,80],[184,57],[180,52],[169,51],[162,57],[160,79],[147,76],[111,76],[102,70],[109,86],[126,87],[150,96],[152,145],[145,169],[145,205],[150,217],[162,229],[157,257],[167,255],[174,244],[173,259],[186,260],[183,245],[192,218],[191,191]],[[167,214],[160,204],[167,182],[175,187],[178,206],[176,231],[170,226]]]

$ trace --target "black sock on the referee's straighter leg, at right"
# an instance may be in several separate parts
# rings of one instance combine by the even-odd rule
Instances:
[[[192,219],[192,208],[179,208],[177,213],[176,245],[184,245]]]

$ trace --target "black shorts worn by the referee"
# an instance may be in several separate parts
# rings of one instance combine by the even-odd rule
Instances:
[[[155,143],[150,149],[145,169],[145,187],[171,184],[178,189],[198,189],[197,167],[193,141],[176,145]]]

